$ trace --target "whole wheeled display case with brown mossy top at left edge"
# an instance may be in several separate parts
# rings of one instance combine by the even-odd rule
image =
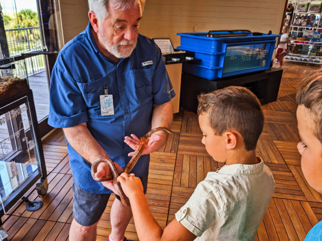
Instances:
[[[42,202],[29,201],[25,193],[34,185],[39,195],[48,189],[33,93],[23,63],[0,60],[0,217],[20,199],[28,203],[27,210],[36,210]]]

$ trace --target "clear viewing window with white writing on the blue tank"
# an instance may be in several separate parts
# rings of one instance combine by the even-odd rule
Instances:
[[[227,47],[223,73],[265,66],[269,49],[270,43]]]

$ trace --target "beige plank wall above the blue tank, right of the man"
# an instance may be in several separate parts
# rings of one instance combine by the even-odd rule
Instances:
[[[279,34],[285,0],[147,0],[140,33],[170,38],[180,46],[177,33],[221,29],[248,29]]]

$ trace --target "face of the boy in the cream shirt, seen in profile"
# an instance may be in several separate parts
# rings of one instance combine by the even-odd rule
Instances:
[[[205,145],[208,154],[217,162],[225,162],[226,145],[222,136],[216,136],[213,128],[210,126],[207,113],[202,113],[198,117],[200,129],[203,132],[201,142]]]

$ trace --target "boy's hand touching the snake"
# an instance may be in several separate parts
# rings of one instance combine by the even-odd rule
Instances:
[[[134,176],[133,173],[122,173],[118,176],[118,182],[121,183],[124,194],[131,199],[137,193],[143,193],[143,185],[140,178]]]

